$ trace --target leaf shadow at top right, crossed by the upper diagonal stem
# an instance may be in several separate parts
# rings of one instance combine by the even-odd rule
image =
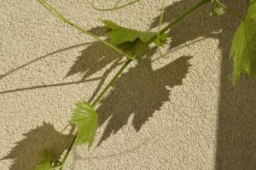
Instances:
[[[177,1],[165,8],[163,17],[163,24],[174,20],[179,14],[191,7],[191,4],[197,3],[197,0]],[[211,5],[205,5],[190,14],[185,20],[173,26],[169,31],[171,37],[170,49],[198,39],[199,37],[213,37],[218,38],[221,30],[225,29],[224,24],[220,23],[220,17],[209,17],[211,12]],[[207,20],[205,20],[207,18]],[[159,25],[160,16],[156,17],[150,25],[153,29]]]

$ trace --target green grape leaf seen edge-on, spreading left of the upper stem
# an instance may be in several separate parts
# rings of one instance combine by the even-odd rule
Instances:
[[[134,47],[136,45],[136,40],[141,40],[143,42],[147,42],[150,38],[157,36],[157,32],[151,31],[137,31],[129,28],[125,28],[123,26],[119,26],[111,20],[102,20],[102,23],[108,28],[108,37],[110,38],[110,42],[113,45],[123,45],[119,46],[119,48],[128,48]],[[160,35],[160,42],[154,41],[157,46],[163,45],[167,40],[167,34]],[[127,43],[126,43],[127,42]]]

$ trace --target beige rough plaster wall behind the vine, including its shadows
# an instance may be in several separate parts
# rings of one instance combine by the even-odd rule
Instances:
[[[51,1],[102,36],[99,19],[156,29],[160,1],[99,12],[90,2]],[[195,0],[168,1],[165,24]],[[108,8],[112,1],[96,1]],[[226,1],[241,14],[245,1]],[[65,169],[256,169],[256,83],[232,88],[228,59],[239,23],[209,17],[211,5],[170,31],[166,58],[148,50],[97,106],[92,150],[76,147]],[[48,148],[61,156],[73,138],[73,104],[91,99],[124,59],[56,20],[36,0],[0,1],[0,169],[31,170]]]

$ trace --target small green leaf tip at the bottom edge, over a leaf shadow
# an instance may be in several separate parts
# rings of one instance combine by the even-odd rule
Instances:
[[[36,170],[49,170],[52,169],[52,161],[48,150],[43,150],[41,154],[41,163],[37,165]]]

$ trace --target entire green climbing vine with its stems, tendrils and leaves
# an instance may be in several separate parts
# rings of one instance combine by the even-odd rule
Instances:
[[[131,3],[126,3],[125,5],[119,5],[120,0],[114,4],[113,8],[97,8],[95,4],[91,4],[92,8],[100,11],[106,10],[117,10],[119,8],[124,8],[132,3],[137,3],[139,0],[132,1]],[[230,52],[230,58],[234,61],[234,76],[233,84],[236,85],[242,72],[246,72],[250,77],[255,77],[256,73],[256,0],[250,0],[247,15],[241,17],[232,8],[227,7],[224,3],[219,0],[201,0],[198,3],[191,5],[183,14],[180,14],[175,19],[170,19],[170,23],[162,27],[163,15],[165,14],[165,0],[161,3],[161,13],[159,21],[159,29],[157,32],[151,31],[137,31],[131,28],[126,28],[124,26],[119,26],[119,24],[111,20],[102,20],[102,24],[106,27],[108,33],[108,41],[97,37],[96,35],[90,33],[90,31],[84,30],[77,24],[74,24],[71,20],[61,14],[53,6],[51,6],[45,0],[38,0],[44,8],[46,8],[51,14],[54,14],[56,18],[63,21],[69,26],[83,32],[86,36],[96,39],[98,42],[112,48],[115,52],[121,54],[126,58],[125,64],[119,69],[116,75],[108,83],[108,85],[103,88],[102,92],[99,93],[96,99],[92,102],[87,102],[86,100],[79,101],[76,104],[76,108],[73,110],[73,116],[70,119],[70,123],[76,126],[76,134],[72,143],[70,144],[66,154],[63,156],[62,160],[53,161],[51,159],[48,150],[42,152],[42,161],[36,167],[37,170],[49,170],[49,169],[60,169],[64,168],[67,157],[70,150],[73,149],[75,144],[88,144],[89,148],[96,136],[96,129],[98,127],[98,114],[95,111],[95,106],[102,99],[104,94],[113,85],[114,82],[119,78],[122,72],[125,70],[127,65],[129,65],[133,60],[137,59],[140,55],[145,52],[150,44],[154,44],[160,52],[160,48],[166,43],[168,36],[166,31],[172,29],[179,22],[184,20],[189,14],[195,12],[195,10],[202,8],[207,3],[212,3],[212,11],[209,14],[223,15],[225,12],[230,12],[234,14],[239,20],[241,20],[241,25],[236,30],[235,36],[232,42],[232,48]],[[220,16],[221,17],[221,16]],[[161,52],[160,52],[161,54]],[[161,54],[162,55],[162,54]]]

